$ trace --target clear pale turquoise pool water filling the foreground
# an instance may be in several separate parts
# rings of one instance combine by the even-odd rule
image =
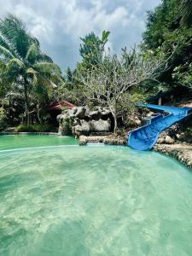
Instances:
[[[70,142],[0,152],[0,255],[192,255],[189,170],[154,152]]]

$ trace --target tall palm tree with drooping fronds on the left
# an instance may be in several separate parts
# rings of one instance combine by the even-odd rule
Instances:
[[[21,92],[25,100],[26,123],[29,124],[29,95],[45,99],[61,83],[61,69],[41,52],[37,38],[15,15],[0,20],[0,74],[9,81],[9,90]],[[14,89],[13,89],[14,88]]]

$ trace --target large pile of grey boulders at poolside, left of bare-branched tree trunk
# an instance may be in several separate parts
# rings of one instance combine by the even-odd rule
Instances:
[[[90,111],[87,106],[64,110],[58,115],[61,135],[89,135],[91,132],[109,132],[112,128],[112,113],[107,108]]]

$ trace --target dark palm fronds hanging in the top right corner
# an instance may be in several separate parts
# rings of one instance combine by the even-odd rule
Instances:
[[[192,0],[182,0],[180,15],[182,26],[192,25]]]

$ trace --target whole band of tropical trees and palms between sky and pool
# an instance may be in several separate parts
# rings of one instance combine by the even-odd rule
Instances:
[[[81,61],[62,74],[22,20],[0,20],[0,126],[47,123],[50,103],[66,100],[110,108],[116,132],[119,116],[130,123],[134,102],[178,86],[192,88],[191,0],[163,0],[149,11],[143,42],[130,52],[111,53],[109,37],[103,31],[80,38]]]

